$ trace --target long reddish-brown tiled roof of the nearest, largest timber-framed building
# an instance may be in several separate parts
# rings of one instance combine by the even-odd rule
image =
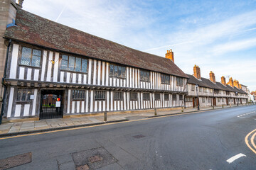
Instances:
[[[61,52],[70,52],[107,62],[188,78],[169,59],[134,50],[116,42],[63,26],[60,23],[55,23],[22,9],[17,10],[16,25],[17,27],[7,28],[4,38],[40,45]]]

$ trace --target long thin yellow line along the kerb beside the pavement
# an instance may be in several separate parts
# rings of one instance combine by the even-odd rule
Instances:
[[[204,112],[209,112],[209,111],[214,111],[214,110],[198,111],[198,112],[192,112],[192,113],[181,113],[181,114],[176,114],[176,115],[163,115],[163,116],[154,117],[154,118],[144,118],[144,119],[139,119],[139,120],[129,120],[129,121],[118,122],[118,123],[105,123],[105,124],[101,124],[101,125],[84,126],[84,127],[78,127],[78,128],[68,128],[68,129],[53,130],[53,131],[48,131],[48,132],[36,132],[36,133],[31,133],[31,134],[26,134],[26,135],[2,137],[2,138],[0,138],[0,140],[6,140],[6,139],[10,139],[10,138],[15,138],[15,137],[25,137],[25,136],[32,136],[32,135],[41,135],[41,134],[46,134],[46,133],[61,132],[61,131],[67,131],[67,130],[78,130],[78,129],[85,129],[85,128],[93,128],[93,127],[97,127],[97,126],[113,125],[113,124],[119,124],[119,123],[130,123],[130,122],[137,122],[137,121],[143,121],[143,120],[151,120],[151,119],[155,119],[155,118],[166,118],[166,117],[172,117],[172,116],[178,116],[178,115],[190,115],[190,114],[204,113]]]

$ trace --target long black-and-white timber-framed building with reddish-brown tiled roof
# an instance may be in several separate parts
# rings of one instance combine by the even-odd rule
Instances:
[[[166,58],[134,50],[23,11],[21,4],[12,2],[14,24],[4,32],[5,118],[185,105],[188,75],[171,50]]]

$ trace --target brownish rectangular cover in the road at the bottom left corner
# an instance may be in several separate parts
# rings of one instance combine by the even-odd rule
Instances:
[[[31,152],[26,154],[18,154],[14,157],[9,157],[6,159],[0,160],[0,170],[2,169],[10,169],[15,166],[19,166],[22,164],[28,164],[31,162]]]

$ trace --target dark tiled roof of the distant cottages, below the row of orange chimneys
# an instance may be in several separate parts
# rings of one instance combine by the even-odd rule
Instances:
[[[215,84],[210,81],[209,79],[206,78],[201,78],[201,80],[196,79],[196,77],[193,77],[193,75],[187,74],[188,76],[188,84],[198,84],[198,86],[202,87],[208,87],[211,89],[218,89],[218,90],[223,90],[223,91],[233,91],[233,92],[238,92],[240,94],[247,94],[245,91],[242,89],[238,89],[236,87],[231,87],[229,85],[224,86],[220,82],[216,82]]]

